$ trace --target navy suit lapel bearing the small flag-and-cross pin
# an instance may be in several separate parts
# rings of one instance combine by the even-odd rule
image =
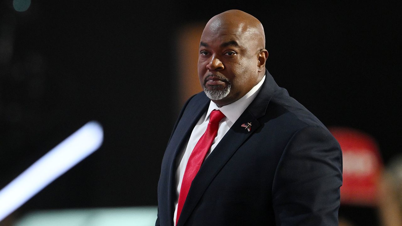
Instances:
[[[177,226],[184,225],[213,178],[236,150],[238,150],[238,148],[244,143],[244,141],[260,126],[257,119],[265,115],[268,103],[273,96],[275,86],[275,81],[267,72],[264,84],[254,101],[252,101],[242,115],[240,115],[238,120],[232,125],[219,144],[215,147],[214,151],[211,152],[205,162],[201,165],[200,170],[191,183]],[[241,125],[243,123],[246,125],[247,123],[251,123],[251,130],[248,131],[245,127],[242,127]],[[191,127],[191,129],[192,128],[193,127]]]

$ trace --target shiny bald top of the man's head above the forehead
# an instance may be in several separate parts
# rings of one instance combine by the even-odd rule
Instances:
[[[213,16],[205,26],[209,31],[225,28],[232,29],[236,35],[255,41],[257,48],[265,49],[264,27],[254,16],[241,10],[228,10]]]

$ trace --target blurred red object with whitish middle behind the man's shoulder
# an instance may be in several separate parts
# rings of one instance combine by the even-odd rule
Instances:
[[[338,140],[343,154],[341,204],[377,205],[377,183],[384,164],[375,139],[346,127],[329,130]]]

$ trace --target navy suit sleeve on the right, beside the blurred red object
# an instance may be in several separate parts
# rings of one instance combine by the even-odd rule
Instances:
[[[327,129],[305,127],[289,140],[275,172],[277,226],[338,226],[342,152]]]

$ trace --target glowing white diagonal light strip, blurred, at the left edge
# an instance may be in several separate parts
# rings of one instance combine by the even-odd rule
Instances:
[[[92,154],[103,142],[102,126],[90,121],[0,190],[0,221]]]

